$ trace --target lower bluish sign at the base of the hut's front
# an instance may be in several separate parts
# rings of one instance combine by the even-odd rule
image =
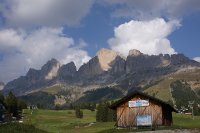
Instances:
[[[150,125],[152,125],[150,115],[137,116],[136,119],[137,119],[137,126],[150,126]]]

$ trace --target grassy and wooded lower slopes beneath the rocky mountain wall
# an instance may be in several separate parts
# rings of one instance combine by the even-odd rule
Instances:
[[[197,76],[192,76],[193,74]],[[190,75],[190,78],[188,78],[188,75]],[[140,87],[131,88],[129,91],[134,89],[143,90],[154,97],[157,97],[172,105],[176,105],[177,108],[180,109],[181,106],[187,107],[188,101],[195,100],[195,104],[200,103],[200,88],[198,88],[200,84],[198,80],[199,75],[200,69],[180,71],[163,76],[159,80],[150,82],[145,86],[144,83],[141,83]],[[190,84],[194,82],[195,85]],[[43,88],[40,91],[31,93],[27,96],[22,96],[22,99],[34,105],[41,104],[43,107],[52,108],[55,105],[69,106],[70,103],[98,103],[105,100],[116,100],[122,98],[126,94],[127,90],[118,88],[116,86],[83,91],[81,88],[74,86],[69,87],[64,86],[63,84],[57,84],[51,87]]]

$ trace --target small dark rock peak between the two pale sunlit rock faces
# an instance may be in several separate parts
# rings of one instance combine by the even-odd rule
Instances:
[[[63,65],[58,70],[58,77],[59,79],[69,79],[73,78],[76,74],[76,66],[74,62],[70,62],[66,65]]]

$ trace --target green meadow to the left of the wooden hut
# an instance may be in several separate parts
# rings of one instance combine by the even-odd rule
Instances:
[[[51,133],[92,133],[114,127],[114,123],[95,123],[95,112],[83,110],[83,119],[75,117],[74,110],[25,110],[24,123]],[[95,123],[90,125],[90,123]]]

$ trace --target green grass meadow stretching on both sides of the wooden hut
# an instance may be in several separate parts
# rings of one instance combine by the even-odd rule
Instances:
[[[36,128],[50,133],[128,133],[127,130],[114,129],[114,122],[95,122],[96,112],[83,110],[83,119],[75,117],[74,110],[25,110],[24,123],[34,125]],[[200,116],[193,120],[191,116],[173,114],[174,126],[160,127],[162,129],[200,128]],[[131,130],[131,131],[143,131]],[[150,129],[147,129],[150,130]]]

